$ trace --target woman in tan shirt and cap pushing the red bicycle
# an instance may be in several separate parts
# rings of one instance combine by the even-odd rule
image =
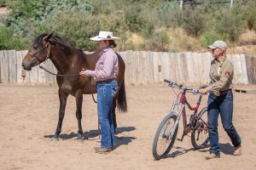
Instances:
[[[210,139],[210,156],[206,159],[220,157],[218,146],[218,114],[226,133],[228,133],[235,147],[234,156],[241,155],[241,138],[232,123],[233,116],[233,65],[226,59],[225,51],[228,48],[223,41],[213,42],[208,46],[212,49],[213,60],[210,68],[211,83],[207,88],[200,90],[201,94],[210,93],[208,96],[208,123]]]

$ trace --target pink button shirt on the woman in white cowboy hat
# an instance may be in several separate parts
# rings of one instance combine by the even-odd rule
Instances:
[[[117,54],[113,48],[105,48],[102,50],[101,58],[96,62],[95,70],[86,70],[85,74],[94,77],[97,82],[115,78],[118,71],[119,62]]]

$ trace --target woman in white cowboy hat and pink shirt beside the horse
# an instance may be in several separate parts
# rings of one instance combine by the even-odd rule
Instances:
[[[106,153],[113,150],[114,127],[112,117],[113,97],[118,91],[118,83],[115,78],[118,74],[118,56],[113,50],[116,47],[113,32],[100,31],[96,37],[90,40],[96,41],[98,48],[102,50],[101,58],[96,62],[94,71],[81,71],[80,75],[94,77],[97,87],[97,111],[101,126],[101,147],[95,147],[96,153]]]

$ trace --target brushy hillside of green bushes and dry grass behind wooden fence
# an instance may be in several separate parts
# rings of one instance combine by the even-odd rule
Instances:
[[[0,28],[0,49],[29,48],[35,37],[53,31],[90,51],[95,43],[89,37],[109,30],[122,38],[118,42],[121,51],[204,51],[222,39],[230,47],[249,45],[238,48],[239,53],[254,53],[254,0],[234,1],[232,8],[218,0],[185,2],[181,9],[177,1],[162,0],[105,0],[104,4],[102,0],[6,1],[12,11]]]

